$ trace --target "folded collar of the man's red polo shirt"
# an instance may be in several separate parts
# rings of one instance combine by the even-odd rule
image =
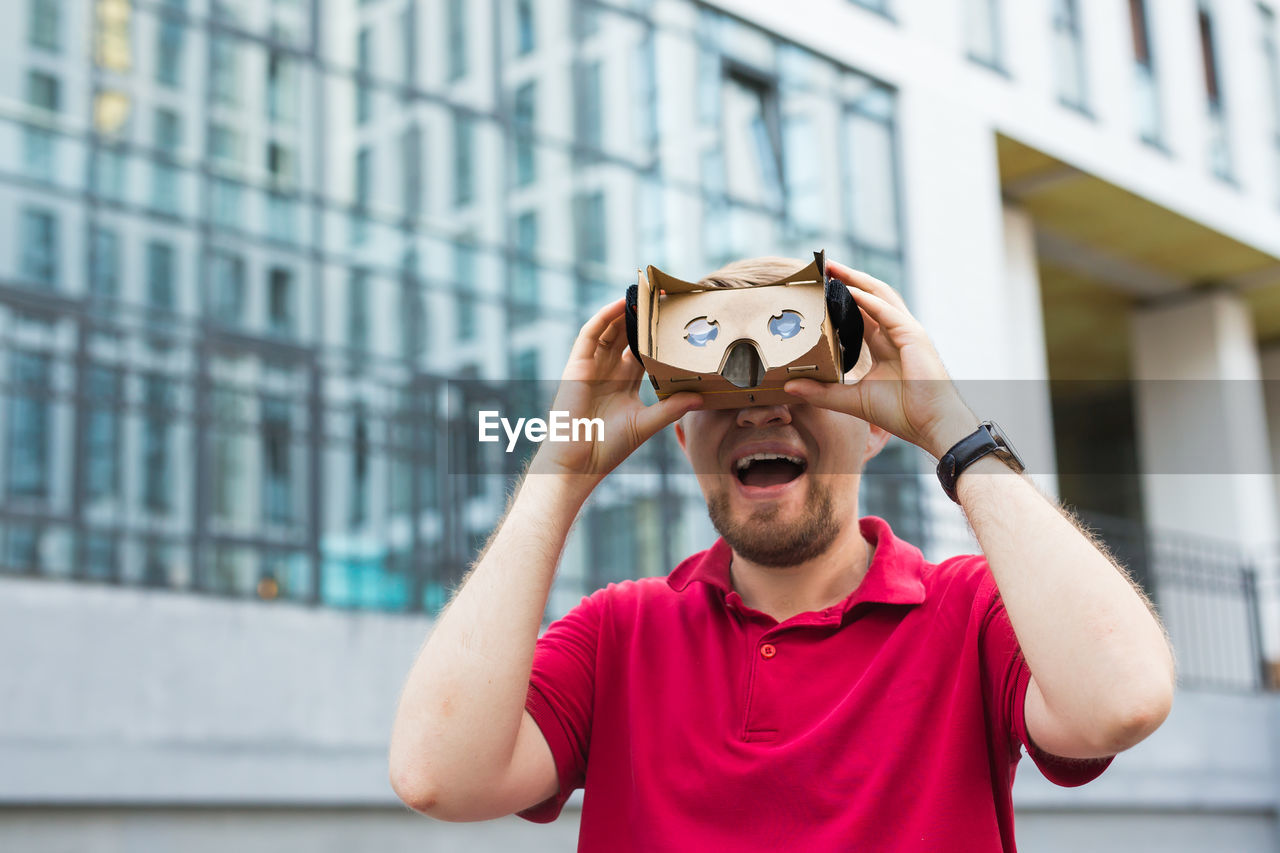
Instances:
[[[909,542],[893,535],[888,523],[873,515],[858,521],[863,538],[876,546],[876,556],[867,567],[867,575],[854,592],[838,606],[831,608],[849,612],[854,605],[879,602],[884,605],[919,605],[924,602],[924,555]],[[700,580],[716,587],[726,596],[733,594],[730,580],[730,562],[733,551],[723,538],[707,551],[695,553],[667,576],[676,592],[684,592],[690,583]]]

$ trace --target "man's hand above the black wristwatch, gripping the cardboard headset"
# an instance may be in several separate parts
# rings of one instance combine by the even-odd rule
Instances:
[[[854,384],[792,379],[786,391],[806,403],[841,411],[941,459],[978,426],[924,327],[897,291],[867,273],[827,261],[863,313],[872,369]]]

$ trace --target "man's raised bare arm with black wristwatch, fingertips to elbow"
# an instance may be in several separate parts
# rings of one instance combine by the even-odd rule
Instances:
[[[874,365],[856,384],[794,379],[787,391],[945,455],[978,426],[902,297],[827,264],[867,323]],[[961,474],[960,503],[991,565],[1032,683],[1036,745],[1068,758],[1115,754],[1164,722],[1174,695],[1167,638],[1144,598],[1027,478],[987,456]]]

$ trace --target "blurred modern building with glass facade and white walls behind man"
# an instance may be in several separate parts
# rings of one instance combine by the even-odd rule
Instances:
[[[1079,790],[1023,763],[1025,849],[1280,849],[1274,4],[6,12],[0,849],[572,849],[572,808],[453,826],[387,783],[518,465],[468,416],[637,266],[818,248],[906,295],[1174,635],[1160,733]],[[710,543],[682,465],[600,489],[548,619]],[[973,548],[913,448],[863,511]]]

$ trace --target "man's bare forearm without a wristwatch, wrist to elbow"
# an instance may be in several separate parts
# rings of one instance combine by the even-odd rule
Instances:
[[[419,653],[390,744],[406,802],[433,802],[442,789],[465,795],[508,767],[556,565],[585,500],[571,479],[525,479]]]

